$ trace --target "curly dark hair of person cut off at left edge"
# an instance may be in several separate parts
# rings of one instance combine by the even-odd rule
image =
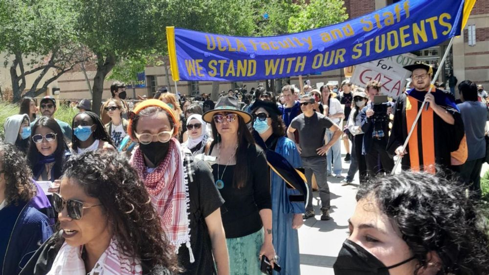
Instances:
[[[36,186],[27,159],[14,145],[0,141],[0,162],[5,178],[5,203],[18,205],[30,201],[36,195]]]

